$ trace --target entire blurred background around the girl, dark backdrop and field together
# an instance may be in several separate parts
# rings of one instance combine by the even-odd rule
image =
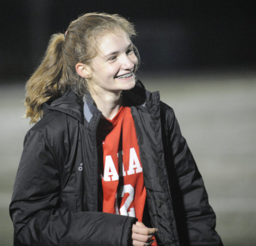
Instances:
[[[89,12],[135,24],[137,76],[174,108],[224,245],[256,245],[256,8],[253,1],[1,1],[0,245],[23,138],[25,83],[54,33]]]

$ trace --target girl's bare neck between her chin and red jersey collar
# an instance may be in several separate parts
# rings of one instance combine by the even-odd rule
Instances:
[[[90,91],[96,107],[102,112],[102,116],[112,120],[122,106],[121,91],[100,93]]]

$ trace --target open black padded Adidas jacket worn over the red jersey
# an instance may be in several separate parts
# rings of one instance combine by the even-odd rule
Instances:
[[[144,222],[158,245],[221,245],[202,177],[173,110],[135,86],[123,92],[140,148]],[[129,245],[136,218],[98,212],[96,129],[101,112],[74,92],[44,104],[26,134],[10,214],[25,245]],[[150,219],[149,219],[150,218]]]

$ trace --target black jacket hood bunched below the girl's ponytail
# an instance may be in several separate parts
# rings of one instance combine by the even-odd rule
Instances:
[[[83,121],[83,101],[72,90],[68,90],[63,96],[43,104],[44,115],[51,111],[59,111],[71,117]]]

